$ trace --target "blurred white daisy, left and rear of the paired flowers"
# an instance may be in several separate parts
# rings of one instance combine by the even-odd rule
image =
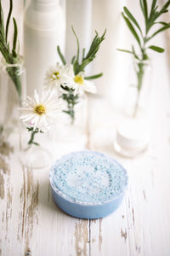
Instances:
[[[71,83],[71,78],[67,75],[65,66],[60,66],[59,63],[56,63],[55,66],[48,68],[44,80],[45,89],[61,90],[61,84],[69,83]]]

